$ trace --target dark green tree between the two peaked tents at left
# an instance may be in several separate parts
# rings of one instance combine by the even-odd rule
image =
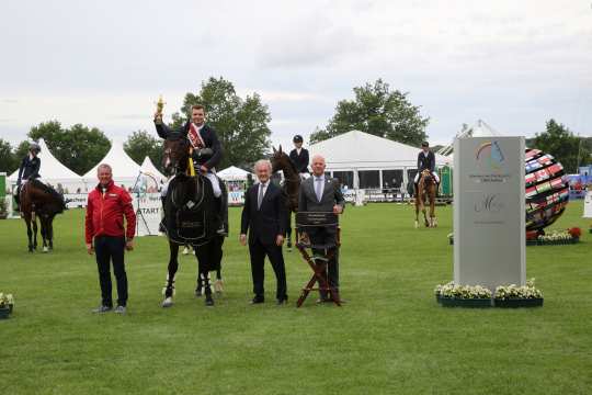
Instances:
[[[34,140],[43,137],[52,154],[78,174],[92,169],[111,148],[103,132],[82,124],[65,129],[58,121],[49,121],[33,126],[27,136]]]

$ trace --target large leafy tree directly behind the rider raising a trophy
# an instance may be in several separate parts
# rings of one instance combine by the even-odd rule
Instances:
[[[237,95],[232,82],[210,77],[202,82],[200,92],[186,93],[181,114],[190,114],[191,106],[202,104],[206,123],[216,131],[224,148],[219,168],[230,165],[248,167],[263,158],[270,147],[271,115],[257,93],[244,99]],[[171,127],[180,127],[186,120],[180,113],[172,115]]]

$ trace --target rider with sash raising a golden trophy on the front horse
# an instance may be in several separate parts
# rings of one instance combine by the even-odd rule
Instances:
[[[220,227],[218,234],[228,235],[228,192],[224,182],[216,176],[216,166],[223,157],[223,147],[214,128],[204,123],[205,109],[203,105],[193,105],[191,108],[191,121],[187,121],[178,131],[171,131],[163,122],[162,114],[155,114],[155,125],[160,137],[167,138],[171,134],[186,135],[192,149],[193,166],[196,172],[201,173],[209,180],[214,196],[218,203],[218,219]],[[212,150],[212,154],[205,155],[206,148]],[[174,176],[173,176],[174,177]],[[172,178],[171,178],[172,180]],[[169,182],[171,181],[169,180]],[[167,196],[167,183],[162,188],[162,199]]]

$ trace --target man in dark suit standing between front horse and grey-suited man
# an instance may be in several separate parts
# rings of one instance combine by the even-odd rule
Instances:
[[[263,303],[264,296],[264,261],[270,259],[277,290],[277,304],[287,302],[286,269],[282,244],[284,242],[286,205],[282,190],[270,182],[272,166],[269,160],[259,160],[254,171],[259,183],[252,185],[244,194],[244,206],[240,222],[240,242],[247,245],[249,232],[249,253],[251,256],[251,274],[253,278],[254,297],[252,304]]]

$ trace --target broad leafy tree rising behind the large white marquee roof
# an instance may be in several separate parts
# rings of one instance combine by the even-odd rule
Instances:
[[[327,127],[317,127],[310,143],[354,129],[413,146],[428,138],[425,126],[430,119],[421,116],[420,108],[407,99],[408,93],[391,91],[382,79],[353,91],[355,99],[340,101]]]

